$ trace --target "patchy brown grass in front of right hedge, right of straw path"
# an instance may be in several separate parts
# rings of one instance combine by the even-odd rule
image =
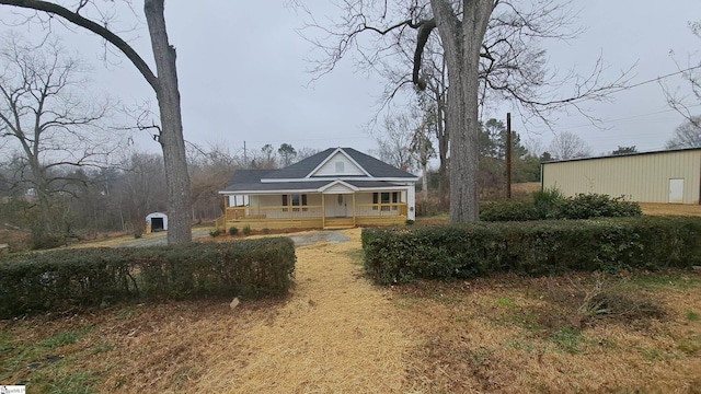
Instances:
[[[631,301],[601,315],[582,313],[583,290],[596,287],[587,277],[506,276],[397,289],[402,320],[415,322],[407,334],[418,339],[407,390],[701,392],[701,324],[689,318],[689,311],[701,310],[701,276],[675,281],[645,289],[614,280],[606,291]]]

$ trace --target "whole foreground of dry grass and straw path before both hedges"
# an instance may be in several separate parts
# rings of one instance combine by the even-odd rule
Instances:
[[[102,393],[701,392],[699,273],[377,288],[361,275],[359,230],[344,233],[350,242],[297,250],[297,285],[284,299],[0,322],[0,384]]]

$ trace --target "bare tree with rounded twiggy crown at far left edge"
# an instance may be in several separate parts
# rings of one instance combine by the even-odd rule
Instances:
[[[85,183],[76,169],[104,163],[114,149],[103,124],[111,104],[84,96],[84,66],[56,40],[36,47],[9,35],[0,68],[0,143],[10,153],[3,164],[14,169],[12,186],[36,201],[35,247],[55,246],[67,233],[56,197]]]

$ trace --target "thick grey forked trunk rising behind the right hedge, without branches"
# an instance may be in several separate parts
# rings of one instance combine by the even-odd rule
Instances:
[[[432,0],[436,27],[448,63],[448,111],[450,130],[450,221],[475,222],[479,164],[479,65],[480,49],[493,0],[466,0],[460,21],[447,0]]]

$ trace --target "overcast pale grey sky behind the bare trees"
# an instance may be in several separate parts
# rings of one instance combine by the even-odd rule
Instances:
[[[141,4],[136,1],[142,22]],[[313,46],[296,30],[303,15],[285,8],[281,1],[169,1],[166,23],[171,43],[177,48],[177,69],[182,95],[185,138],[199,144],[223,144],[240,152],[265,143],[278,147],[324,149],[353,147],[361,151],[376,149],[365,125],[378,109],[377,100],[383,81],[378,76],[357,72],[350,58],[331,73],[309,85],[306,72]],[[701,58],[701,39],[693,36],[688,22],[701,18],[701,1],[575,1],[582,7],[579,23],[586,31],[567,44],[545,47],[551,66],[575,67],[586,73],[599,55],[607,74],[614,78],[622,69],[636,63],[631,83],[662,77],[677,70],[670,50],[683,66],[692,56]],[[314,3],[315,16],[334,16],[336,9]],[[0,8],[0,19],[11,20],[10,9]],[[123,13],[125,25],[140,23]],[[118,55],[110,56],[105,67],[99,58],[100,40],[80,30],[66,31],[55,24],[66,45],[79,50],[94,66],[95,90],[110,92],[126,105],[151,101],[153,93],[136,69]],[[10,27],[1,27],[3,31]],[[36,36],[38,26],[22,26],[25,35]],[[152,63],[148,33],[143,25],[127,33],[130,43]],[[680,78],[668,78],[673,89],[686,85]],[[591,126],[579,115],[556,116],[554,132],[570,130],[579,135],[599,154],[618,146],[636,146],[639,150],[664,148],[665,141],[683,118],[671,111],[659,83],[648,83],[617,93],[612,103],[586,105],[590,114],[605,121]],[[701,103],[696,103],[701,104]],[[701,107],[698,107],[701,113]],[[508,105],[485,114],[504,118]],[[514,114],[514,128],[522,139],[540,141],[547,147],[553,131],[543,125],[526,130]],[[146,132],[143,132],[146,135]],[[139,149],[158,151],[148,138],[137,139]]]

